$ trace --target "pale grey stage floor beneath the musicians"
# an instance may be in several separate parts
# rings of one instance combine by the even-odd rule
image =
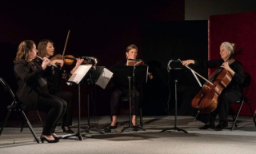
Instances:
[[[80,120],[81,140],[78,135],[62,139],[56,144],[37,144],[29,128],[20,132],[21,121],[8,121],[0,136],[0,152],[5,153],[255,153],[256,127],[250,117],[239,116],[238,128],[230,131],[200,130],[203,123],[193,116],[143,116],[143,129],[138,132],[127,128],[128,116],[118,116],[118,128],[112,132],[104,129],[110,124],[110,116],[90,117]],[[138,121],[139,122],[139,121]],[[42,132],[38,121],[31,121],[37,136]],[[217,124],[217,123],[216,123]],[[78,118],[72,129],[78,131]],[[180,131],[178,129],[181,129]],[[163,131],[166,130],[166,131]],[[89,132],[88,132],[89,131]],[[57,134],[66,136],[58,126]],[[187,132],[187,133],[186,133]]]

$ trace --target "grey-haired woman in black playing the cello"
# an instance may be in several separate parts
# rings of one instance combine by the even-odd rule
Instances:
[[[206,68],[222,68],[226,69],[232,76],[230,84],[223,89],[222,93],[218,97],[218,107],[214,112],[207,114],[206,124],[200,129],[214,128],[217,131],[222,130],[228,126],[227,116],[230,109],[230,102],[238,101],[241,96],[241,85],[244,81],[242,64],[240,61],[234,59],[234,44],[230,42],[222,42],[220,45],[220,56],[222,59],[211,61],[196,61],[186,60],[182,61],[182,65],[198,65]],[[219,123],[215,127],[215,118],[218,114]]]

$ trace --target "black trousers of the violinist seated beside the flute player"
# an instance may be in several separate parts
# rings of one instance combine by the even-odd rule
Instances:
[[[60,91],[55,94],[55,96],[62,98],[64,101],[66,101],[67,108],[66,113],[63,115],[62,119],[62,125],[63,126],[70,126],[72,125],[72,97],[73,94],[68,91]]]

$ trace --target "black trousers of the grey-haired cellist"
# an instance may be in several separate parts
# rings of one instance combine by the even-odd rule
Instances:
[[[218,97],[218,107],[212,113],[206,114],[207,122],[214,122],[218,115],[219,120],[226,121],[230,111],[230,102],[239,101],[242,97],[241,93],[235,90],[224,89]]]

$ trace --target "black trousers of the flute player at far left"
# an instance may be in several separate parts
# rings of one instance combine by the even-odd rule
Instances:
[[[67,104],[62,98],[40,93],[38,96],[38,110],[46,112],[46,122],[42,135],[50,136],[55,132],[58,120],[66,113]]]

